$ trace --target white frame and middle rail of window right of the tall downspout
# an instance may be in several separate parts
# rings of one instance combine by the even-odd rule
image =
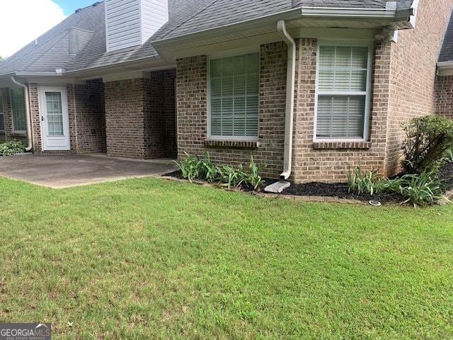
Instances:
[[[367,89],[363,91],[319,91],[319,53],[321,46],[350,46],[350,47],[368,47],[368,61],[367,61]],[[371,91],[372,91],[372,72],[373,72],[373,55],[374,43],[372,41],[345,41],[345,40],[319,40],[318,49],[316,52],[316,90],[314,101],[314,142],[368,142],[369,141],[369,116],[371,111]],[[325,94],[326,96],[345,95],[345,96],[363,96],[365,94],[365,118],[363,127],[363,138],[317,138],[316,125],[318,123],[318,98]]]

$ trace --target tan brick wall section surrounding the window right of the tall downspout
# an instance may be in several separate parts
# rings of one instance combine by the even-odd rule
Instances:
[[[384,174],[389,45],[377,43],[374,47],[369,142],[314,143],[316,45],[314,39],[297,41],[294,181],[345,181],[348,169],[355,166],[360,166],[364,171],[377,170],[379,174]]]

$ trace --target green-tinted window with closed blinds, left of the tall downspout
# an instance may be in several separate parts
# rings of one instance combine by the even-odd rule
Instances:
[[[259,71],[258,53],[210,61],[210,137],[258,137]]]

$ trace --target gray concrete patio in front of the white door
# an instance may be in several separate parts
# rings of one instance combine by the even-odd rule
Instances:
[[[0,176],[50,188],[160,176],[176,169],[171,159],[118,159],[105,154],[23,154],[0,157]]]

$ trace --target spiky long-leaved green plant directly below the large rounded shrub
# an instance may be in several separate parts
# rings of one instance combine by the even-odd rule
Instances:
[[[437,179],[435,171],[425,171],[420,175],[411,174],[401,177],[399,193],[406,200],[403,203],[415,205],[431,205],[442,198],[445,188]]]

